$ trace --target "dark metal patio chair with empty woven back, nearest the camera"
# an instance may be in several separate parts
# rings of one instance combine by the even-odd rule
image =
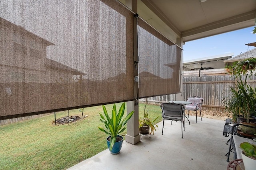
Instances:
[[[183,116],[184,105],[174,104],[174,103],[162,103],[160,107],[162,109],[162,118],[163,118],[162,135],[164,132],[164,120],[167,119],[171,121],[181,121],[181,137],[183,138],[182,123],[185,131],[185,121]]]

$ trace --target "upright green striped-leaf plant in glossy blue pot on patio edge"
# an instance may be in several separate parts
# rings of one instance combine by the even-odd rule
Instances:
[[[111,154],[118,154],[122,148],[123,137],[119,135],[121,132],[126,129],[124,125],[126,125],[127,121],[132,117],[134,111],[131,111],[124,119],[124,109],[125,103],[123,103],[118,111],[116,112],[116,104],[114,104],[112,109],[112,117],[110,118],[106,107],[102,106],[105,117],[100,113],[100,121],[104,123],[106,130],[102,127],[98,127],[100,131],[105,132],[109,136],[107,137],[107,145]]]

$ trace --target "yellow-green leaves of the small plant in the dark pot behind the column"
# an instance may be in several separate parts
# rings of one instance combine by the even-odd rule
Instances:
[[[156,125],[156,120],[158,117],[156,117],[153,121],[150,120],[150,117],[148,115],[148,111],[146,111],[146,106],[144,107],[144,115],[143,118],[140,117],[139,119],[139,128],[142,126],[150,126],[150,134],[152,133],[154,135],[154,131],[156,131],[156,127],[158,129],[158,125]],[[156,127],[155,127],[156,126]]]

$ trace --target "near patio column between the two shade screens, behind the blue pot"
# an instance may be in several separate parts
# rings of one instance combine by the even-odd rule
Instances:
[[[137,13],[137,0],[126,0],[126,6],[133,12]],[[136,19],[135,19],[136,20]],[[134,29],[136,29],[137,22],[134,21]],[[138,61],[138,41],[137,31],[134,32],[134,61]],[[138,76],[138,68],[134,66],[134,76]],[[138,82],[134,82],[134,98],[138,98]],[[140,141],[139,135],[139,105],[136,101],[127,102],[127,114],[134,110],[132,118],[127,122],[127,134],[125,141],[131,144],[136,144]]]

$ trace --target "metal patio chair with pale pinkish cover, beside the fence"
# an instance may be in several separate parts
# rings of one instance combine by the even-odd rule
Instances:
[[[185,110],[188,110],[188,117],[189,117],[189,110],[196,111],[196,123],[197,123],[197,111],[200,110],[200,117],[202,120],[202,115],[201,115],[201,109],[202,109],[202,102],[203,98],[198,97],[198,96],[192,96],[187,99],[187,102],[191,102],[192,104],[187,104],[185,106]]]

